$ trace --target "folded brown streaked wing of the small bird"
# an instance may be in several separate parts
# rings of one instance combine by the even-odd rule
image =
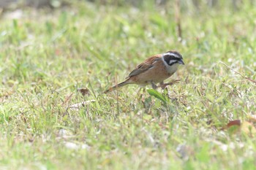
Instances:
[[[132,72],[129,74],[127,78],[146,72],[148,69],[153,67],[154,62],[158,60],[161,60],[161,58],[159,58],[159,55],[155,55],[151,58],[148,58],[143,63],[140,63],[140,65],[138,65],[136,69],[132,70]]]

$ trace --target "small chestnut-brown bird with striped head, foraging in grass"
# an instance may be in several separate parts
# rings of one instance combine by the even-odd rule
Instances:
[[[151,84],[152,88],[156,89],[158,88],[156,84],[160,83],[160,87],[165,87],[170,83],[164,84],[164,80],[172,76],[180,64],[184,65],[184,61],[182,55],[176,51],[153,55],[132,70],[124,82],[114,85],[112,88],[105,90],[104,93],[129,84],[141,86]]]

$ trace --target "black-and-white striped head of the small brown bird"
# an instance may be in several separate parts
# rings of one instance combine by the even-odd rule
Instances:
[[[162,58],[169,66],[172,66],[175,63],[184,64],[182,55],[176,51],[168,51],[167,53],[163,53]]]

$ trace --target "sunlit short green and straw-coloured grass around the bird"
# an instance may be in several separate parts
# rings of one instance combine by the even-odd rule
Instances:
[[[182,41],[171,2],[1,14],[0,168],[255,169],[256,9],[222,3],[182,6]],[[102,94],[167,50],[179,83]]]

